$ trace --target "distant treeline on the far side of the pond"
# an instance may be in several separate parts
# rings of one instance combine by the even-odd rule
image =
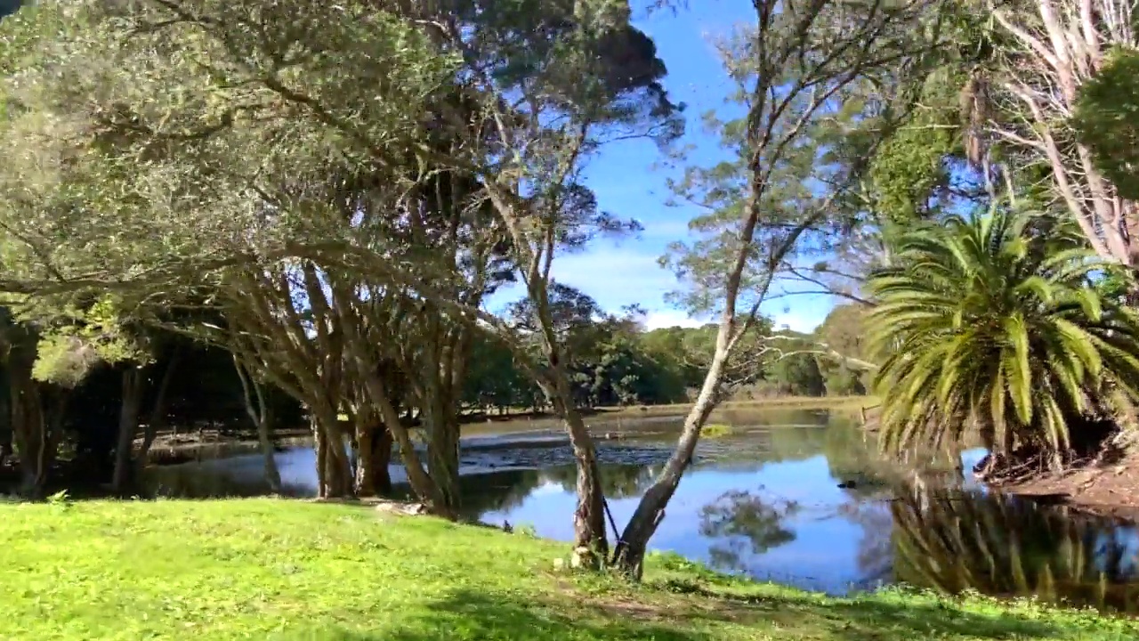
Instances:
[[[757,327],[732,360],[726,391],[731,398],[852,396],[866,393],[865,375],[841,357],[860,358],[861,311],[837,307],[813,333]],[[644,331],[636,315],[573,325],[575,399],[580,407],[685,403],[704,382],[716,326]],[[482,338],[464,388],[468,408],[492,413],[543,409],[546,397],[511,351]]]

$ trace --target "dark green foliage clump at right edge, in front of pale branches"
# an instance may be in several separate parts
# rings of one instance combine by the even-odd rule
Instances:
[[[1120,195],[1139,198],[1139,50],[1113,50],[1080,86],[1072,124]]]

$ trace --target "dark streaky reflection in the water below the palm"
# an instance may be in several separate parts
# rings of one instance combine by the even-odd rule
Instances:
[[[900,582],[1139,612],[1134,526],[1027,500],[921,487],[899,492],[891,513]]]

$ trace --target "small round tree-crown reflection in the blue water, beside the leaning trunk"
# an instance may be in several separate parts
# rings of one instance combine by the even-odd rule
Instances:
[[[700,510],[700,536],[713,539],[710,565],[746,573],[747,558],[795,539],[782,520],[798,510],[792,502],[768,502],[752,492],[729,490]]]

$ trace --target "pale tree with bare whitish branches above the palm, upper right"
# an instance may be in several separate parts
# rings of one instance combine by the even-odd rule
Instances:
[[[984,7],[997,25],[981,39],[992,55],[964,95],[977,123],[977,160],[995,146],[992,154],[1007,159],[1006,175],[1049,178],[1051,194],[1096,253],[1136,265],[1134,205],[1118,197],[1071,117],[1081,86],[1099,73],[1112,48],[1134,44],[1131,2],[986,0]],[[1084,112],[1083,124],[1089,117]]]

